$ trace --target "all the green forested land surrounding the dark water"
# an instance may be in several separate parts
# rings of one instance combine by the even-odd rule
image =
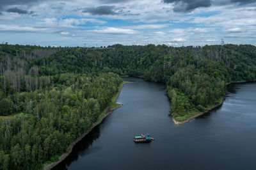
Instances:
[[[253,45],[0,45],[0,169],[42,169],[115,107],[120,75],[166,82],[187,121],[222,102],[227,84],[256,79]],[[111,100],[112,99],[112,100]]]

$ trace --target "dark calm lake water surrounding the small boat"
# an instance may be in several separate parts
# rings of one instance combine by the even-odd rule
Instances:
[[[164,84],[132,77],[110,114],[56,169],[256,169],[256,84],[236,84],[222,107],[174,125]],[[134,135],[156,141],[136,144]]]

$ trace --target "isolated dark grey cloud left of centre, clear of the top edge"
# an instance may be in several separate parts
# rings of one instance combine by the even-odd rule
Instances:
[[[115,12],[115,6],[98,6],[92,8],[84,8],[82,12],[90,13],[92,15],[119,15],[120,12]]]

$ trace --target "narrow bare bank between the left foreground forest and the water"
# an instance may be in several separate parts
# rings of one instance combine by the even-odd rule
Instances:
[[[120,89],[118,89],[118,95],[115,98],[115,102],[117,100],[117,98],[119,97],[122,89],[124,88],[124,84],[129,83],[129,82],[125,82],[123,81],[120,86],[122,85],[122,87]],[[102,116],[102,118],[100,118],[100,120],[98,120],[97,122],[93,123],[92,127],[90,127],[84,134],[82,134],[80,137],[77,137],[77,139],[75,141],[72,141],[72,143],[68,146],[67,148],[67,152],[63,153],[62,155],[60,155],[59,160],[57,162],[52,162],[51,164],[44,164],[44,170],[49,170],[52,169],[53,167],[57,166],[58,164],[60,164],[60,162],[62,162],[63,160],[65,160],[65,158],[68,157],[68,155],[70,155],[70,153],[72,152],[74,146],[79,143],[79,141],[81,141],[86,135],[88,135],[93,128],[97,127],[97,125],[99,125],[104,118],[106,118],[109,114],[111,114],[113,111],[115,111],[116,109],[118,109],[119,107],[122,107],[123,104],[118,105],[117,107],[113,107],[110,108],[109,106],[106,107],[106,109],[104,109],[104,111],[102,112],[102,114],[105,113],[104,116]]]

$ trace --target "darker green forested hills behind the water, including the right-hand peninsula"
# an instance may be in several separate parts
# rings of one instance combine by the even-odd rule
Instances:
[[[167,82],[173,117],[182,121],[219,103],[228,82],[254,80],[256,47],[227,44],[66,48],[48,58],[33,59],[31,63],[39,66],[40,75],[114,72]]]

